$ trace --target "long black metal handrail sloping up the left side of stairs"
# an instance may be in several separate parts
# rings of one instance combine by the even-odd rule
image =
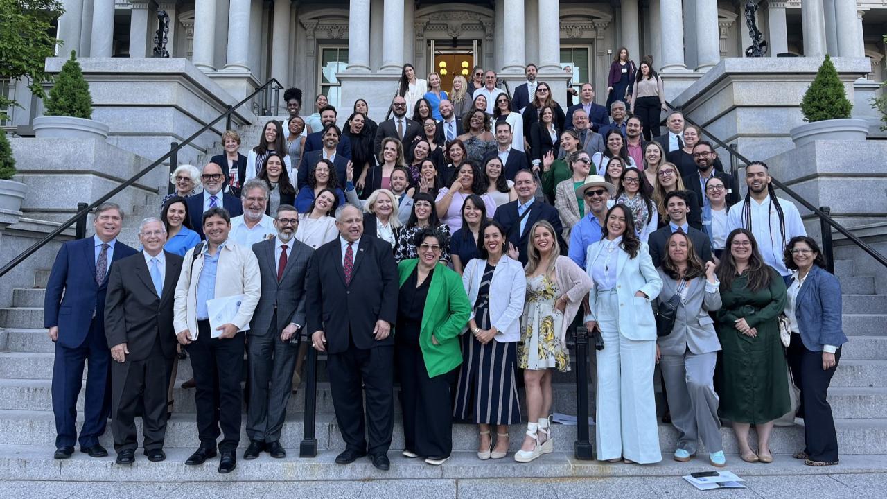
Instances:
[[[252,100],[256,95],[258,95],[260,92],[264,91],[265,89],[267,89],[269,87],[273,88],[273,85],[277,85],[279,88],[283,88],[283,85],[281,85],[279,81],[277,81],[274,78],[271,78],[270,80],[265,82],[261,87],[255,89],[255,91],[253,93],[249,94],[245,99],[239,101],[234,106],[228,107],[228,109],[224,113],[216,116],[216,119],[203,125],[203,127],[201,127],[199,131],[195,131],[191,137],[184,139],[181,144],[178,144],[175,147],[171,147],[167,154],[163,154],[156,161],[154,161],[153,163],[148,165],[145,169],[139,171],[138,173],[136,173],[135,175],[130,177],[128,180],[123,182],[120,186],[114,187],[114,189],[111,189],[105,195],[101,196],[100,198],[98,198],[98,200],[92,202],[92,204],[90,204],[89,206],[87,206],[85,208],[82,208],[81,205],[78,205],[77,213],[73,217],[68,218],[66,221],[62,222],[61,225],[59,225],[50,234],[46,234],[46,236],[44,236],[43,239],[41,239],[38,242],[35,242],[30,248],[25,249],[24,251],[22,251],[20,253],[19,256],[12,258],[12,260],[8,264],[4,265],[3,268],[0,269],[0,277],[3,277],[6,273],[9,273],[9,271],[11,271],[13,268],[15,268],[21,262],[25,261],[31,255],[33,255],[38,249],[43,248],[43,246],[45,246],[47,243],[51,242],[59,234],[65,232],[69,226],[77,223],[81,219],[85,220],[86,216],[90,213],[90,211],[95,210],[99,204],[108,201],[109,199],[113,198],[115,195],[122,192],[123,189],[135,184],[139,178],[145,177],[145,175],[147,175],[148,172],[150,172],[154,168],[157,168],[159,165],[161,165],[164,161],[166,161],[170,157],[175,157],[176,154],[178,154],[179,150],[181,150],[183,147],[191,144],[191,142],[194,139],[197,139],[198,137],[200,137],[200,135],[203,132],[208,131],[210,128],[212,128],[213,125],[220,122],[221,120],[227,119],[239,107],[243,106],[244,104],[247,104],[247,102]]]

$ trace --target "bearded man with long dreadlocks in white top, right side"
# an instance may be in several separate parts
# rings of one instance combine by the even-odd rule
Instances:
[[[770,172],[765,162],[751,162],[745,169],[748,194],[742,206],[727,213],[727,233],[744,228],[754,234],[761,256],[767,265],[788,281],[791,271],[782,262],[782,251],[796,235],[807,235],[797,207],[789,200],[776,197]]]

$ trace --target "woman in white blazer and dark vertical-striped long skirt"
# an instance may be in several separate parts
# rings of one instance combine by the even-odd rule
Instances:
[[[480,229],[478,257],[462,273],[472,318],[462,335],[462,367],[453,416],[480,426],[477,457],[501,459],[508,450],[508,425],[521,422],[517,398],[517,342],[527,292],[523,265],[506,255],[506,230],[494,220]],[[498,439],[493,447],[491,426]]]

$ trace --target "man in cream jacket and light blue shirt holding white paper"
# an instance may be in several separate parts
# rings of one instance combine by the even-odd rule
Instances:
[[[237,467],[240,440],[240,408],[243,392],[244,333],[262,294],[259,264],[255,254],[229,241],[231,216],[224,208],[212,208],[203,214],[206,243],[198,244],[184,255],[182,273],[176,287],[175,320],[178,342],[188,346],[197,390],[197,430],[200,448],[185,464],[202,464],[216,456],[216,440],[222,453],[218,471],[229,473]],[[209,325],[207,302],[217,298],[242,295],[232,321],[216,327]],[[236,303],[236,301],[235,301]],[[218,402],[216,402],[218,400]],[[217,405],[216,405],[217,403]],[[219,425],[221,424],[221,431]]]

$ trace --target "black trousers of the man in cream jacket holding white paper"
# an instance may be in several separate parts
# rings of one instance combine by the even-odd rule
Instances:
[[[209,321],[198,321],[197,340],[188,345],[197,406],[197,432],[201,448],[216,448],[220,434],[224,437],[219,450],[234,450],[240,441],[240,410],[243,391],[244,333],[232,338],[212,338]],[[221,432],[219,425],[221,424]]]

